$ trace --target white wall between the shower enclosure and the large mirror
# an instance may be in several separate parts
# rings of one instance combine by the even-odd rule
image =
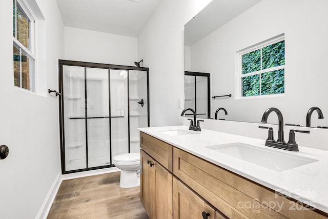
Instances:
[[[138,59],[149,67],[151,126],[182,123],[183,26],[209,1],[162,1],[138,37]]]

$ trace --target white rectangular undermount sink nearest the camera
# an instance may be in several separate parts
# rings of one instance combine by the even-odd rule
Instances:
[[[275,171],[289,170],[318,161],[244,143],[215,145],[207,148]]]

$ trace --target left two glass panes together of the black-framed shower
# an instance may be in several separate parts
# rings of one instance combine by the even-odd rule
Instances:
[[[63,66],[65,171],[111,165],[109,70]]]

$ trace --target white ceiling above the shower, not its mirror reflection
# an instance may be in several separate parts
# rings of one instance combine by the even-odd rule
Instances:
[[[137,37],[162,0],[57,0],[64,25]]]

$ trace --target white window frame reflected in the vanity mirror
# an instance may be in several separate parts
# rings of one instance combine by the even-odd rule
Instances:
[[[247,47],[245,49],[239,50],[236,52],[236,72],[235,72],[235,92],[237,95],[235,95],[236,99],[248,99],[248,98],[266,98],[266,97],[278,97],[278,96],[284,96],[286,91],[284,90],[284,93],[279,94],[261,94],[262,91],[262,84],[261,84],[261,74],[266,72],[272,72],[280,69],[284,69],[284,75],[285,75],[285,66],[286,66],[286,56],[285,58],[285,64],[280,66],[275,66],[272,68],[262,69],[262,48],[279,43],[281,41],[285,41],[284,34],[280,34],[278,36],[272,37],[268,39],[267,41],[263,41],[261,43],[258,43],[256,45]],[[242,55],[259,50],[261,52],[261,70],[250,72],[246,74],[242,74]],[[242,78],[252,75],[259,75],[259,83],[260,83],[260,92],[259,95],[253,95],[253,96],[242,96]],[[285,86],[285,80],[284,80],[284,86]]]

